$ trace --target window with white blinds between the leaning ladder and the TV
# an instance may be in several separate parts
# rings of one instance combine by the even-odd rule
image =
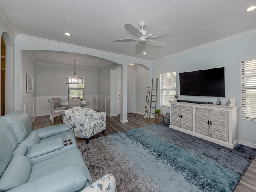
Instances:
[[[170,106],[176,95],[176,72],[160,74],[160,105]]]

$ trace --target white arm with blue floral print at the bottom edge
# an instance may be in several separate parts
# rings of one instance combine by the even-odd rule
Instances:
[[[116,180],[112,174],[106,174],[82,192],[116,192]]]

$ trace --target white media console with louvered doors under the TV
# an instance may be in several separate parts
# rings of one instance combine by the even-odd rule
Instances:
[[[170,128],[233,149],[237,106],[170,101]]]

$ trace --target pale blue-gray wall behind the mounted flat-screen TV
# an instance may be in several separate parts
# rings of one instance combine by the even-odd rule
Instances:
[[[235,98],[237,110],[238,140],[256,144],[256,121],[241,119],[241,58],[250,58],[256,55],[256,36],[232,40],[215,46],[191,51],[178,56],[170,57],[153,64],[153,77],[160,79],[161,72],[177,72],[177,94],[181,100],[211,101],[216,103],[216,97],[180,96],[179,73],[209,68],[225,67],[226,97],[221,98],[222,105],[228,98]],[[159,81],[160,83],[160,81]],[[160,84],[159,84],[160,85]],[[160,90],[160,89],[159,89]],[[160,98],[160,92],[158,92]],[[158,99],[159,100],[159,99]],[[162,112],[170,108],[159,106]]]

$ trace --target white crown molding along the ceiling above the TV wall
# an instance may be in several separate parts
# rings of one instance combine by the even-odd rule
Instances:
[[[198,51],[198,50],[201,50],[201,49],[204,49],[204,48],[208,48],[208,47],[211,47],[211,46],[216,46],[218,44],[222,44],[222,43],[225,43],[225,42],[229,42],[229,41],[232,41],[232,40],[236,40],[236,39],[239,39],[239,38],[244,38],[246,36],[255,35],[255,34],[256,34],[256,28],[252,29],[252,30],[249,30],[249,31],[246,31],[246,32],[236,34],[236,35],[232,35],[232,36],[220,39],[220,40],[216,40],[216,41],[213,41],[213,42],[210,42],[210,43],[206,43],[206,44],[203,44],[203,45],[191,48],[191,49],[187,49],[187,50],[184,50],[184,51],[181,51],[181,52],[178,52],[178,53],[174,53],[174,54],[171,54],[171,55],[153,60],[152,62],[158,62],[158,61],[161,61],[161,60],[166,60],[166,59],[176,57],[176,56],[179,56],[179,55],[182,55],[182,54],[185,54],[185,53]]]

